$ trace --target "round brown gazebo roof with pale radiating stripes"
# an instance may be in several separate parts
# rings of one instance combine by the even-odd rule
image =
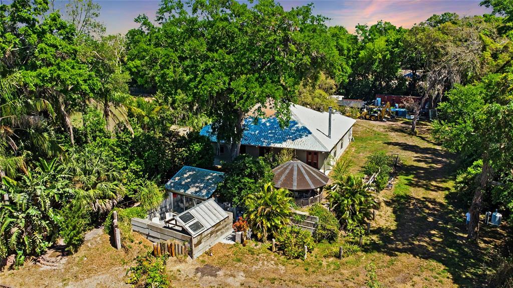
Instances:
[[[292,159],[272,170],[274,187],[288,190],[310,190],[325,186],[329,177],[321,171]]]

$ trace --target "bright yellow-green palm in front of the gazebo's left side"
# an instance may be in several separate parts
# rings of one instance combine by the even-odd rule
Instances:
[[[269,182],[246,199],[245,217],[259,239],[266,241],[269,235],[277,235],[289,222],[292,198],[288,194],[288,190],[275,189]]]

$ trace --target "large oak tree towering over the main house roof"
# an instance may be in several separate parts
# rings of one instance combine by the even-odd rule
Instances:
[[[286,123],[302,79],[321,69],[340,73],[326,18],[312,15],[311,5],[286,11],[269,0],[164,0],[156,20],[142,15],[128,33],[134,82],[165,94],[174,109],[204,111],[232,157],[253,107],[259,114],[271,99]]]

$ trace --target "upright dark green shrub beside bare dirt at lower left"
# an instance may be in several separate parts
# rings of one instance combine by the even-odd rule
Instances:
[[[67,245],[66,251],[74,254],[84,243],[84,232],[89,224],[89,215],[83,205],[72,201],[61,210],[60,216],[60,233]]]

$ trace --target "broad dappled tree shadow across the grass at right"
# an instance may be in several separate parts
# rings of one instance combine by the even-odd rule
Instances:
[[[379,241],[363,249],[389,256],[406,253],[435,260],[447,268],[456,284],[464,287],[485,285],[484,267],[490,261],[489,250],[506,243],[500,241],[505,237],[504,229],[482,225],[481,245],[467,242],[464,205],[458,201],[455,193],[450,193],[447,186],[457,170],[455,161],[436,148],[403,142],[386,144],[414,153],[412,163],[403,164],[398,171],[399,176],[408,177],[408,187],[440,193],[446,201],[422,193],[415,195],[411,191],[394,195],[385,203],[396,216],[397,228],[373,229],[371,232],[378,235]]]

